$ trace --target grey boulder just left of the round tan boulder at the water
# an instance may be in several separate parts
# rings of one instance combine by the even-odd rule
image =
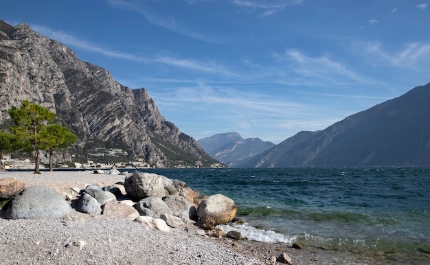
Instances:
[[[172,215],[181,218],[185,224],[197,220],[196,207],[190,200],[179,195],[169,195],[164,197],[163,201],[172,210]]]

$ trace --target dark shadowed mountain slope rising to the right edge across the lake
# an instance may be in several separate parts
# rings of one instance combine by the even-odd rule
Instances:
[[[430,165],[430,83],[346,117],[300,132],[242,167]]]

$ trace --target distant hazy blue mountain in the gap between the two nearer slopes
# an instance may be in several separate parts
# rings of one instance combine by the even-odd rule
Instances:
[[[275,146],[259,138],[243,139],[238,133],[221,133],[197,142],[208,154],[229,167],[237,167],[244,159]]]

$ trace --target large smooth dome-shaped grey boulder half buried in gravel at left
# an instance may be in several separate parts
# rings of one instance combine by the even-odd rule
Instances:
[[[5,217],[10,219],[61,218],[71,207],[54,189],[32,186],[24,189],[10,203]]]

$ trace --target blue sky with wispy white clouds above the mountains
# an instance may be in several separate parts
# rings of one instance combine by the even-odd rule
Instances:
[[[430,82],[430,0],[3,0],[194,139],[280,143]]]

